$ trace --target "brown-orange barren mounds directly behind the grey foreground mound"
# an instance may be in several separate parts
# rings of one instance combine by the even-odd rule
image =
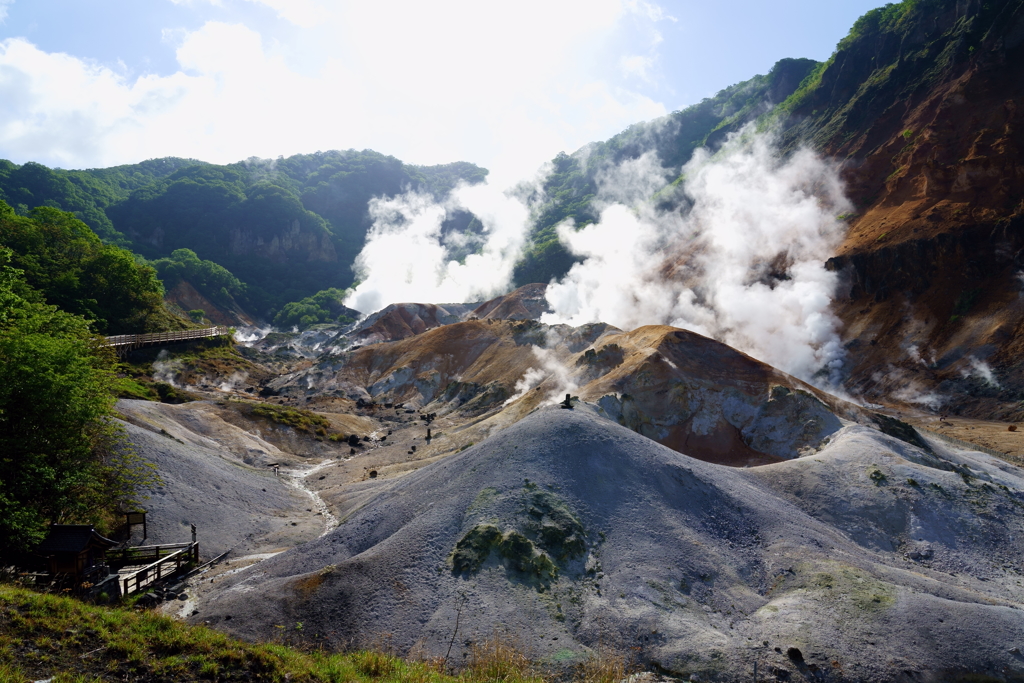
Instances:
[[[359,400],[370,414],[400,403],[435,415],[435,430],[461,425],[484,436],[570,393],[680,453],[736,466],[813,452],[843,420],[888,429],[886,418],[665,326],[624,333],[472,319],[329,356],[270,386],[296,399]],[[426,452],[447,445],[438,440]]]

